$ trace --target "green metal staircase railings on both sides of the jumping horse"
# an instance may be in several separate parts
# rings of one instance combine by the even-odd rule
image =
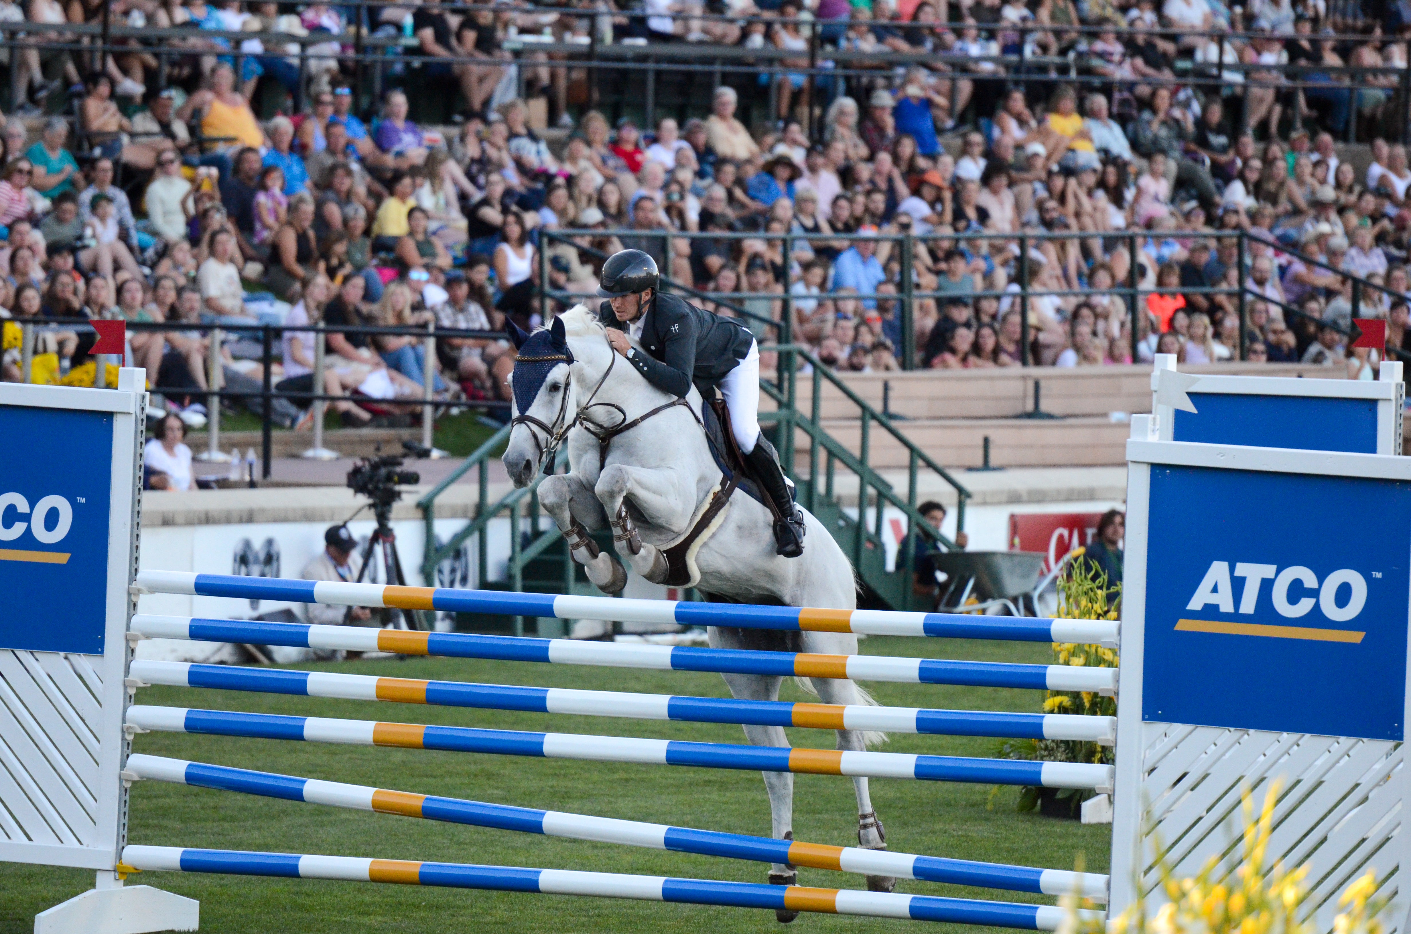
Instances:
[[[965,528],[965,502],[969,499],[969,491],[944,467],[937,464],[930,454],[906,437],[892,419],[872,408],[872,405],[854,392],[847,382],[824,367],[804,347],[797,344],[765,347],[766,353],[770,350],[779,353],[776,381],[761,381],[761,388],[775,401],[777,409],[775,412],[761,412],[759,420],[766,430],[772,430],[775,435],[775,446],[779,449],[785,471],[796,484],[799,501],[828,528],[834,539],[838,540],[852,560],[858,577],[878,600],[893,609],[917,608],[917,598],[913,594],[912,584],[912,556],[916,552],[917,542],[920,540],[928,547],[944,550],[955,547],[954,542],[931,528],[917,511],[920,473],[921,470],[934,471],[955,491],[955,521],[958,529]],[[811,367],[811,394],[807,412],[800,411],[797,401],[800,361]],[[820,415],[824,382],[834,385],[842,392],[844,398],[856,406],[861,427],[861,443],[856,451],[849,450],[823,429]],[[868,463],[873,429],[886,432],[907,451],[909,467],[904,494],[897,491],[889,480]],[[799,450],[800,435],[804,439],[806,451]],[[542,515],[538,494],[539,481],[523,490],[511,490],[499,498],[491,499],[490,461],[499,454],[508,439],[509,426],[505,426],[476,449],[456,471],[436,484],[436,487],[418,501],[416,505],[420,508],[426,522],[426,550],[422,562],[423,578],[429,584],[435,584],[437,566],[447,557],[454,556],[461,545],[474,538],[477,545],[476,580],[480,581],[478,586],[481,588],[564,594],[598,593],[587,580],[583,569],[569,554],[559,526],[550,518]],[[563,470],[566,461],[566,453],[560,451],[555,471]],[[800,467],[804,467],[807,473],[800,470]],[[478,498],[474,518],[447,542],[437,545],[435,532],[436,499],[471,470],[478,471]],[[840,471],[844,474],[842,484],[838,483]],[[849,511],[844,505],[847,490],[842,488],[852,484],[856,487],[855,511]],[[904,516],[907,525],[895,567],[890,570],[886,567],[885,547],[886,507],[897,509]],[[508,573],[502,580],[492,580],[490,574],[490,523],[505,515],[509,518]],[[598,545],[610,549],[611,535],[602,533]],[[508,618],[508,625],[515,635],[523,635],[525,619],[522,617]],[[484,621],[476,624],[476,628],[483,626]],[[562,635],[563,626],[563,621],[559,619],[540,618],[536,621],[539,635]]]

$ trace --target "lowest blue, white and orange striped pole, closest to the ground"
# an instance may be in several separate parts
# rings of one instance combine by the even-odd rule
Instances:
[[[811,889],[758,882],[715,882],[631,876],[611,872],[569,869],[522,869],[519,866],[476,866],[406,859],[361,859],[354,856],[303,856],[237,849],[182,849],[179,847],[127,847],[126,868],[138,871],[207,872],[279,879],[334,879],[341,882],[391,882],[396,885],[577,894],[680,904],[713,904],[776,911],[816,911],[862,917],[909,918],[951,924],[986,924],[1053,931],[1067,917],[1064,909],[1047,904],[969,902],[924,894],[859,892],[855,889]],[[1082,911],[1085,920],[1106,917]]]

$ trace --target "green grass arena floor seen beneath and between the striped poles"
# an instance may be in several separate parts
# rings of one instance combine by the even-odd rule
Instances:
[[[1048,657],[1044,645],[885,638],[868,639],[864,652],[1006,662],[1046,662]],[[398,677],[727,696],[720,676],[684,672],[628,672],[453,659],[394,659],[301,667]],[[882,704],[1013,711],[1038,708],[1037,691],[919,684],[868,687]],[[807,700],[807,696],[792,683],[786,683],[783,697]],[[744,742],[739,727],[734,725],[547,717],[237,691],[151,687],[140,691],[138,701],[357,720]],[[831,732],[813,729],[792,729],[790,739],[801,746],[831,746],[834,742]],[[979,738],[895,735],[883,749],[988,756],[992,746],[993,741]],[[756,772],[368,749],[176,734],[140,735],[134,741],[134,751],[428,794],[741,834],[769,834],[769,804]],[[872,800],[886,823],[888,844],[895,851],[1044,868],[1072,868],[1075,859],[1081,856],[1086,861],[1086,868],[1106,871],[1110,835],[1108,827],[1084,827],[1077,821],[1019,814],[1013,810],[1015,789],[1003,789],[995,797],[991,792],[989,786],[872,782]],[[849,845],[856,842],[855,825],[851,782],[831,776],[797,776],[793,824],[796,838]],[[762,863],[437,824],[158,782],[143,782],[133,789],[128,841],[745,882],[763,882],[768,872]],[[801,869],[799,876],[801,885],[862,886],[858,876],[823,869]],[[769,931],[777,927],[772,914],[766,911],[610,899],[178,873],[144,873],[137,882],[199,899],[202,930],[220,933],[440,934],[464,930],[515,934],[576,931],[619,934],[710,930],[711,934],[734,934]],[[92,875],[87,872],[0,863],[0,934],[31,931],[31,918],[35,913],[90,885]],[[899,883],[897,890],[1051,903],[1051,899],[1044,896],[910,880]],[[830,916],[803,916],[794,924],[809,931],[899,930],[896,921]]]

